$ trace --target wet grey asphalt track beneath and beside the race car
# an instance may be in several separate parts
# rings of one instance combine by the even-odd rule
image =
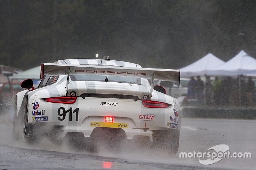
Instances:
[[[12,122],[0,121],[0,169],[256,169],[256,121],[182,119],[180,148],[169,157],[159,152],[124,148],[120,153],[76,152],[67,145],[47,139],[34,145],[12,140]],[[252,158],[223,158],[202,165],[198,158],[179,158],[180,152],[206,152],[212,146],[226,144],[230,152],[251,152]]]

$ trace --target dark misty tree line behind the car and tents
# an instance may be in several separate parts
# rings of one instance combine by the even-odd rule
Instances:
[[[26,70],[99,53],[179,69],[256,56],[254,0],[0,0],[0,64]]]

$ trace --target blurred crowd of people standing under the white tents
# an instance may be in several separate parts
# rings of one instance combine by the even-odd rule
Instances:
[[[240,81],[240,82],[239,82]],[[239,85],[240,84],[240,85]],[[197,76],[188,83],[187,99],[196,99],[198,105],[255,105],[255,83],[252,77],[239,78],[205,76],[205,83]]]

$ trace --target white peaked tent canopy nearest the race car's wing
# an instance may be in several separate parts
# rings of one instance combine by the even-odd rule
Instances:
[[[180,77],[188,78],[192,76],[204,76],[207,69],[222,65],[224,63],[224,61],[220,60],[212,53],[209,53],[197,60],[195,63],[179,69]]]

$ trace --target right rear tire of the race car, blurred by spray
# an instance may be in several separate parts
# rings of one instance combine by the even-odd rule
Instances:
[[[175,155],[178,152],[180,130],[155,130],[152,136],[155,149],[162,150],[169,155]]]

